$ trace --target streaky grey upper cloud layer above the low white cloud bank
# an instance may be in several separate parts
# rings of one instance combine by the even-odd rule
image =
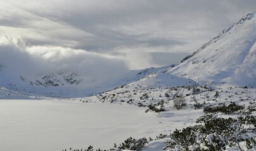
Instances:
[[[254,11],[256,1],[9,0],[8,4],[20,12],[35,15],[32,18],[37,23],[26,13],[25,18],[21,17],[24,15],[18,10],[15,14],[20,14],[19,17],[0,18],[1,26],[23,27],[30,33],[18,32],[28,45],[71,47],[117,59],[120,53],[125,53],[121,59],[144,53],[147,60],[138,67],[150,67],[163,64],[155,54],[194,52],[224,28]],[[141,64],[139,59],[131,57],[124,60],[131,69],[137,68],[131,67],[136,62]]]

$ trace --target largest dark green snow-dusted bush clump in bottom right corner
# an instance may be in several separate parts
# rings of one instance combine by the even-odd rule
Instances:
[[[243,141],[247,142],[248,147],[254,147],[255,139],[251,137],[255,137],[256,130],[244,128],[241,120],[204,115],[198,119],[198,122],[204,122],[204,125],[188,126],[182,130],[173,131],[170,135],[171,140],[165,142],[164,149],[226,150],[228,145],[237,148]]]

